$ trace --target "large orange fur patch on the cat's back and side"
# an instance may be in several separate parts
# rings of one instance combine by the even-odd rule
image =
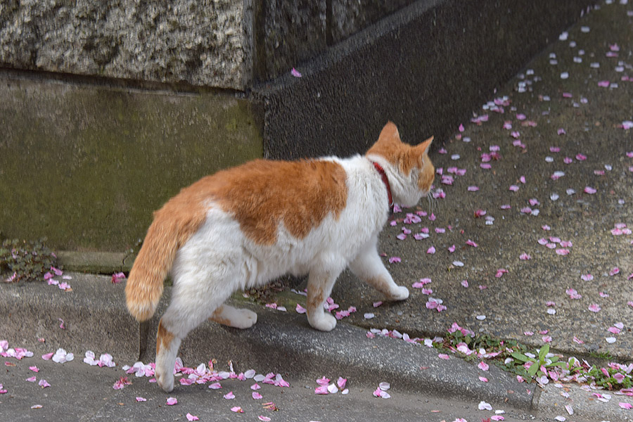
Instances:
[[[271,245],[279,224],[296,238],[347,203],[345,170],[321,160],[255,160],[200,179],[188,189],[230,212],[252,241]]]

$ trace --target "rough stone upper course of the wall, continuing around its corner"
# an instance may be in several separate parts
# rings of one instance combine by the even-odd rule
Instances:
[[[0,65],[245,91],[414,0],[6,0]]]

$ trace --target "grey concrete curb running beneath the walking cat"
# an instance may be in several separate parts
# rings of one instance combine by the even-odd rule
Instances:
[[[82,358],[84,352],[109,352],[117,362],[132,364],[143,343],[139,324],[124,307],[124,283],[113,285],[106,276],[72,274],[72,291],[41,283],[4,285],[0,301],[8,304],[9,323],[2,339],[11,347],[27,347],[34,353],[63,347]],[[158,316],[167,305],[170,289],[148,329],[143,359],[153,361]],[[249,306],[251,307],[251,306]],[[391,338],[366,338],[362,328],[339,324],[331,333],[309,328],[304,315],[257,309],[259,321],[249,330],[207,323],[190,333],[181,346],[188,366],[231,360],[236,370],[261,366],[271,371],[300,376],[344,376],[357,385],[376,386],[382,381],[395,391],[460,397],[504,403],[532,409],[534,385],[517,388],[516,381],[491,366],[482,383],[480,371],[461,359],[438,359],[437,350]],[[63,319],[65,329],[59,327]],[[35,327],[35,328],[34,328]],[[39,343],[44,338],[45,343]],[[179,388],[179,385],[177,385]]]

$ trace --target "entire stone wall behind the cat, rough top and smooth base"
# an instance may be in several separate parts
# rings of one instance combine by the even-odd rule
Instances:
[[[0,0],[0,239],[121,252],[224,167],[441,145],[593,1]]]

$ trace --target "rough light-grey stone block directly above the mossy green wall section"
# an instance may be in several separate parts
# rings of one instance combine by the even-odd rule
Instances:
[[[243,90],[251,13],[243,0],[3,1],[0,63]]]

